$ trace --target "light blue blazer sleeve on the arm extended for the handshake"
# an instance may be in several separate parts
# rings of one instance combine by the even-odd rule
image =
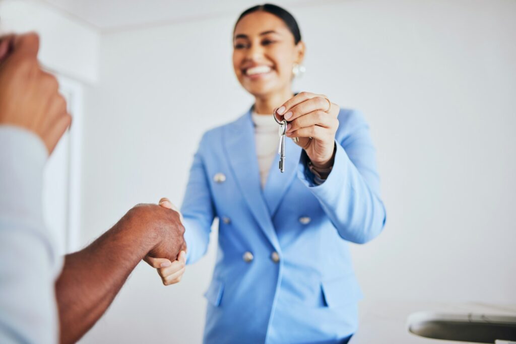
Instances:
[[[184,238],[186,241],[186,263],[199,260],[208,248],[209,233],[215,218],[215,207],[209,187],[209,178],[203,159],[201,140],[197,153],[193,156],[186,192],[181,207]]]

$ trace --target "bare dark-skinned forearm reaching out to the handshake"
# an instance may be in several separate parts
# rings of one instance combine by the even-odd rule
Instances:
[[[87,248],[65,257],[56,281],[61,343],[77,341],[95,324],[156,245],[157,231],[134,222],[122,218]]]

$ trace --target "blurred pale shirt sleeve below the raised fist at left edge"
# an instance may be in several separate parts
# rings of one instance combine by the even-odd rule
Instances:
[[[47,150],[22,128],[0,126],[0,342],[56,343],[56,266],[42,220]]]

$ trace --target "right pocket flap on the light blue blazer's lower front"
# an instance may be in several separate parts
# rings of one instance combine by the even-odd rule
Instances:
[[[340,307],[362,299],[362,291],[354,274],[321,283],[325,306]]]

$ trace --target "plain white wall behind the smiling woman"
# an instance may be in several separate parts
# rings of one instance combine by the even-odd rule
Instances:
[[[296,89],[362,110],[377,146],[387,225],[352,248],[366,300],[516,303],[516,2],[291,9],[308,46]],[[201,134],[251,105],[231,68],[237,14],[103,35],[85,242],[135,203],[180,204]],[[178,285],[140,264],[83,342],[199,342],[213,244]]]

